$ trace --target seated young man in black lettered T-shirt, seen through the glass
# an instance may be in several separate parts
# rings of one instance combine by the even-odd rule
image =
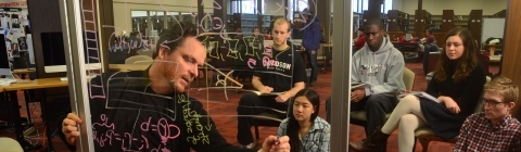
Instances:
[[[238,132],[237,140],[245,148],[254,148],[254,141],[251,127],[253,115],[258,115],[265,111],[271,111],[266,107],[288,111],[288,102],[296,92],[304,89],[306,81],[306,71],[304,61],[296,52],[293,45],[288,43],[291,36],[290,23],[284,18],[275,21],[271,35],[274,38],[272,51],[263,56],[263,66],[258,66],[257,73],[252,78],[253,87],[262,93],[284,92],[278,96],[257,96],[253,92],[245,93],[239,101],[237,107]],[[280,113],[279,117],[285,118],[285,113]]]

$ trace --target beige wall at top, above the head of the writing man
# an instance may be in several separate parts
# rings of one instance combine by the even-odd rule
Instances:
[[[131,31],[130,11],[198,12],[196,0],[114,0],[114,26],[116,34]],[[204,12],[213,13],[213,0],[203,0]]]

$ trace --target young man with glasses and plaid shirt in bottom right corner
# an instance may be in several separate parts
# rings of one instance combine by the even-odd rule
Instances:
[[[485,112],[467,117],[454,151],[521,151],[521,123],[511,116],[518,96],[519,88],[509,78],[499,76],[485,85]]]

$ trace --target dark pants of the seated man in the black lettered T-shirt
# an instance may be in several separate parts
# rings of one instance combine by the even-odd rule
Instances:
[[[237,140],[242,145],[246,145],[253,142],[252,135],[252,121],[251,115],[258,115],[269,109],[276,109],[279,111],[288,111],[288,101],[285,103],[279,103],[275,101],[274,96],[257,96],[252,92],[247,92],[239,100],[239,106],[237,107],[238,115],[238,132]],[[266,109],[269,107],[269,109]],[[288,117],[287,113],[278,113],[279,118],[283,119]]]

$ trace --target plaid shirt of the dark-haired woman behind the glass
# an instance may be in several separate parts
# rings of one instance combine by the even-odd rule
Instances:
[[[277,131],[278,137],[285,136],[288,121],[289,118],[285,118],[280,123]],[[309,128],[309,131],[307,131],[306,139],[302,140],[301,135],[298,135],[302,143],[301,152],[329,152],[330,132],[331,126],[328,122],[320,117],[315,118],[313,128]]]

